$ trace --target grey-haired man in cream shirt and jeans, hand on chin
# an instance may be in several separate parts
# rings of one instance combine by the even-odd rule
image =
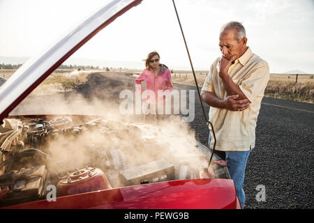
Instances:
[[[201,98],[211,108],[209,121],[216,135],[216,154],[225,159],[237,196],[244,208],[242,188],[246,162],[255,147],[255,127],[260,103],[269,80],[269,66],[246,45],[246,30],[228,22],[220,30],[223,54],[211,64]],[[209,133],[209,148],[214,146]]]

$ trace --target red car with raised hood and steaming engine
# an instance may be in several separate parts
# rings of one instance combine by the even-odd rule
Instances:
[[[1,208],[241,208],[225,163],[214,155],[208,174],[208,148],[196,140],[174,145],[186,140],[179,132],[80,112],[10,116],[63,61],[141,1],[112,1],[0,86]]]

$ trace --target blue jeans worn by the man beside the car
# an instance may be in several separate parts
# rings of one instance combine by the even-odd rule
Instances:
[[[209,133],[208,147],[210,144],[211,134]],[[237,192],[237,197],[239,197],[241,203],[241,208],[244,208],[246,194],[244,193],[242,186],[244,184],[246,162],[248,161],[248,155],[251,153],[251,147],[249,151],[214,151],[214,153],[227,163],[230,177],[234,180],[234,186]]]

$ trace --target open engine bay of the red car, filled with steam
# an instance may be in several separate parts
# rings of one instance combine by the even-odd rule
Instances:
[[[0,125],[0,206],[190,178],[230,178],[187,133],[102,116],[12,116]]]

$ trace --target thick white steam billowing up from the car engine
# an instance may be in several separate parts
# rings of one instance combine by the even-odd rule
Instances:
[[[37,95],[24,100],[13,114],[86,114],[98,115],[98,121],[91,122],[82,116],[71,128],[46,141],[45,151],[56,160],[54,171],[65,174],[85,166],[100,166],[107,169],[126,169],[163,158],[175,164],[188,165],[185,176],[197,177],[197,168],[206,167],[206,156],[195,151],[195,134],[179,116],[171,116],[158,125],[142,122],[142,116],[122,116],[119,103],[99,98],[84,98],[82,95]],[[11,114],[12,115],[12,114]],[[56,126],[57,127],[57,126]],[[67,132],[66,132],[67,131]],[[51,134],[52,135],[52,134]],[[124,156],[124,157],[121,157]],[[112,164],[108,164],[111,160]],[[107,164],[106,164],[107,162]],[[119,164],[120,167],[119,167]],[[108,165],[116,167],[108,168]],[[107,166],[106,166],[107,165]],[[179,171],[179,170],[178,170]],[[112,171],[113,173],[114,171]],[[194,174],[190,174],[193,172]],[[177,173],[177,178],[179,172]],[[188,177],[190,178],[190,177]],[[121,183],[116,183],[121,186]]]

